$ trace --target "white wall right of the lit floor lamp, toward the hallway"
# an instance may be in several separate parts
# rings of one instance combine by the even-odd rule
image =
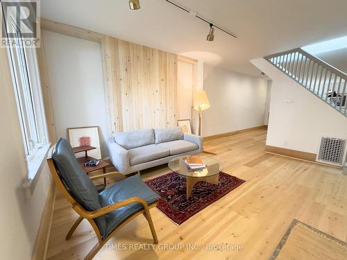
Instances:
[[[211,104],[203,111],[203,136],[264,125],[266,80],[205,64],[203,89]]]

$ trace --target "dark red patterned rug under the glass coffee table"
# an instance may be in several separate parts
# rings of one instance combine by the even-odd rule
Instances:
[[[146,181],[146,184],[162,197],[158,200],[158,209],[180,225],[244,182],[227,173],[219,173],[219,184],[197,182],[189,199],[186,178],[178,173],[167,173]]]

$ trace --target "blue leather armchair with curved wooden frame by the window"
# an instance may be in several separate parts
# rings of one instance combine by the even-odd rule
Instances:
[[[62,138],[47,161],[58,188],[80,215],[66,239],[70,239],[83,218],[87,218],[98,238],[85,259],[92,259],[112,235],[139,214],[149,222],[154,243],[158,243],[149,209],[155,207],[160,196],[149,189],[139,175],[126,178],[114,172],[88,177],[78,165],[69,142]],[[122,180],[98,194],[92,180],[111,176]]]

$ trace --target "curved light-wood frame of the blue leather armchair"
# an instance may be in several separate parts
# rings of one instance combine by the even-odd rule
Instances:
[[[60,179],[59,175],[58,175],[58,171],[56,169],[56,166],[53,163],[53,159],[48,158],[47,159],[48,165],[49,165],[49,169],[51,171],[51,175],[53,176],[54,181],[56,182],[58,189],[60,189],[60,191],[62,192],[62,194],[67,198],[67,200],[69,200],[69,202],[71,203],[72,208],[74,209],[74,211],[77,212],[79,216],[79,218],[76,220],[76,222],[74,223],[74,225],[72,225],[71,229],[69,230],[69,232],[67,233],[66,236],[66,240],[69,240],[72,236],[72,234],[74,234],[74,231],[76,230],[76,228],[78,227],[78,225],[81,223],[81,221],[83,220],[83,218],[86,218],[90,225],[92,225],[94,232],[98,238],[98,243],[96,243],[94,245],[94,247],[92,248],[92,250],[90,250],[90,252],[87,254],[87,256],[85,257],[85,260],[90,260],[93,259],[93,257],[97,254],[97,252],[99,252],[99,250],[103,247],[103,245],[105,245],[105,243],[113,236],[115,235],[119,229],[121,229],[121,227],[123,227],[124,225],[126,225],[126,223],[130,222],[130,220],[133,220],[133,218],[136,218],[137,216],[139,216],[139,214],[143,214],[144,217],[146,218],[146,220],[149,223],[149,227],[151,228],[151,233],[153,236],[153,241],[155,244],[158,244],[158,238],[157,238],[157,234],[155,234],[155,229],[154,229],[154,225],[153,225],[153,221],[151,218],[151,214],[149,213],[149,209],[151,209],[152,207],[156,206],[156,202],[147,205],[146,201],[144,201],[142,198],[139,197],[132,197],[132,198],[128,198],[127,200],[123,200],[121,202],[117,202],[113,205],[109,205],[107,207],[103,207],[101,209],[98,209],[96,211],[86,211],[69,193],[69,191],[67,191],[67,188],[65,187],[65,184],[63,184],[62,180]],[[125,179],[125,176],[117,171],[112,172],[112,173],[105,173],[102,175],[96,175],[93,177],[90,177],[91,180],[98,180],[98,179],[103,179],[104,177],[113,177],[113,176],[117,176],[117,177],[121,177],[121,180]],[[135,214],[128,216],[128,218],[126,218],[121,224],[119,224],[105,239],[102,239],[102,236],[99,232],[99,228],[97,227],[94,218],[97,218],[99,216],[103,216],[105,214],[108,214],[109,212],[115,210],[115,209],[119,209],[121,207],[125,207],[126,205],[130,205],[132,203],[141,203],[142,206],[144,207],[143,209],[135,212]]]

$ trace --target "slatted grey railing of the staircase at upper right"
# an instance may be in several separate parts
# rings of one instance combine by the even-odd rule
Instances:
[[[300,48],[264,59],[347,117],[346,73]]]

